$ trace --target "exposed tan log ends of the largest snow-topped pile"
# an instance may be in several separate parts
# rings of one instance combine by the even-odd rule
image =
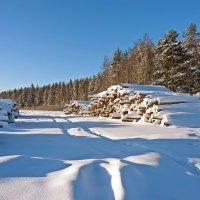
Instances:
[[[158,115],[162,110],[159,100],[148,98],[148,94],[147,91],[130,90],[123,84],[112,86],[106,92],[89,96],[91,103],[88,111],[93,116],[121,119],[125,122],[169,125],[163,116]]]

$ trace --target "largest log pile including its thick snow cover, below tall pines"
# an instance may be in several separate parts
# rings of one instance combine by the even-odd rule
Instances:
[[[177,110],[180,105],[183,109],[188,107],[188,103],[196,102],[197,108],[200,108],[198,95],[174,93],[163,86],[154,85],[120,84],[89,98],[88,111],[91,115],[127,122],[170,125],[174,124],[177,113],[182,115],[183,111]],[[173,108],[174,111],[170,112]]]

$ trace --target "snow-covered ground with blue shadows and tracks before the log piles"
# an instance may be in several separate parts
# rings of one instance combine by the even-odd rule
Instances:
[[[200,199],[200,123],[21,114],[0,129],[1,200]]]

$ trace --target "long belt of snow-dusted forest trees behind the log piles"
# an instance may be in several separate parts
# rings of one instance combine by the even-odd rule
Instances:
[[[186,31],[168,31],[157,44],[148,35],[126,51],[116,49],[112,58],[105,57],[101,71],[87,78],[31,85],[3,91],[0,98],[11,98],[21,108],[58,108],[70,100],[86,100],[89,94],[118,83],[163,85],[175,92],[200,92],[200,33],[196,24]]]

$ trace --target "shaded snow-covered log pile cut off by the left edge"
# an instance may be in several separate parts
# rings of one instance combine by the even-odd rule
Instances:
[[[18,116],[19,109],[16,102],[10,99],[0,99],[0,127],[14,123]]]

